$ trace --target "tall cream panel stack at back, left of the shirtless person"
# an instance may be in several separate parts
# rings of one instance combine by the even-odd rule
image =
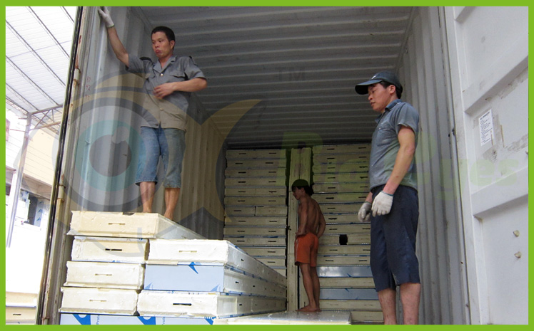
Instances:
[[[286,150],[228,150],[226,162],[224,238],[286,276]]]

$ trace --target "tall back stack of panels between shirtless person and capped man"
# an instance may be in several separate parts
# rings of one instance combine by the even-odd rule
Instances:
[[[371,145],[313,147],[313,198],[326,220],[319,243],[321,308],[348,310],[353,323],[382,322],[371,267],[371,224],[358,221],[369,192]]]

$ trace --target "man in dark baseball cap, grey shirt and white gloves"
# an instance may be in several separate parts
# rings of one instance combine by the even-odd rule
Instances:
[[[371,142],[371,191],[358,219],[371,219],[371,271],[384,324],[397,323],[397,286],[401,288],[404,324],[417,324],[420,278],[415,234],[419,206],[413,158],[419,115],[401,100],[403,86],[394,73],[377,73],[355,89],[358,94],[368,94],[371,108],[380,114]]]

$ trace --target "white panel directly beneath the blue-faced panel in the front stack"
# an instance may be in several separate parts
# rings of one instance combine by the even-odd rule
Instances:
[[[141,316],[235,317],[286,310],[286,298],[143,290],[137,310]]]

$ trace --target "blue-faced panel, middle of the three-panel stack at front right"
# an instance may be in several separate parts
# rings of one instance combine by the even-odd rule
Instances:
[[[144,289],[286,298],[286,288],[282,285],[224,266],[147,265]]]

